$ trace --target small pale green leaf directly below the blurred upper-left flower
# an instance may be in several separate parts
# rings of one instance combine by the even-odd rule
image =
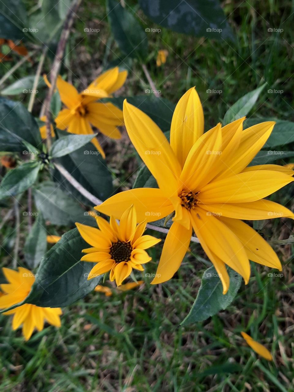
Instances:
[[[67,135],[57,139],[51,148],[50,155],[52,158],[60,158],[76,151],[89,143],[95,134],[91,135]]]

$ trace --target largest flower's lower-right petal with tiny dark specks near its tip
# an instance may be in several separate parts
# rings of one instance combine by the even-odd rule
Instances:
[[[219,220],[236,234],[243,244],[249,260],[267,267],[277,268],[280,271],[282,270],[281,262],[276,252],[254,229],[238,219],[220,217]]]

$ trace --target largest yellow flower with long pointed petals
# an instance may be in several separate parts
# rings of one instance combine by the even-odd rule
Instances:
[[[203,133],[204,117],[194,88],[185,93],[172,116],[171,143],[142,111],[124,102],[124,122],[134,147],[159,189],[118,193],[96,210],[119,219],[133,204],[138,219],[154,221],[175,211],[152,283],[172,278],[189,247],[192,228],[223,284],[225,264],[248,283],[249,260],[281,269],[278,256],[244,220],[294,217],[285,207],[263,198],[293,181],[293,172],[278,165],[247,167],[267,141],[274,122],[243,130],[241,118]]]

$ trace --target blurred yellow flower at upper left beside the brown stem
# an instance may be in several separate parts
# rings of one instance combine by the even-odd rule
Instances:
[[[66,108],[62,109],[55,118],[57,128],[67,129],[71,133],[92,134],[94,132],[91,125],[93,125],[105,136],[119,139],[121,135],[117,127],[123,124],[122,111],[113,103],[95,101],[111,97],[114,91],[122,87],[126,78],[127,71],[120,72],[118,67],[109,69],[79,94],[72,84],[58,76],[56,87]],[[92,143],[105,158],[98,140],[94,138]]]

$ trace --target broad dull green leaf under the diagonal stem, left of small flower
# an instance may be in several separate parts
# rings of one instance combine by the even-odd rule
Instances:
[[[74,225],[78,221],[95,225],[95,220],[80,206],[80,203],[63,192],[54,182],[45,181],[34,190],[36,207],[53,225]]]

